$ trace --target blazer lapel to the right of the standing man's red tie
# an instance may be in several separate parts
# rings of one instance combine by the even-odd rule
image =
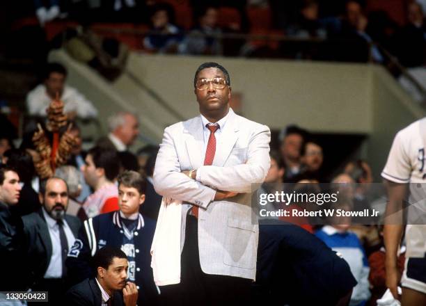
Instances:
[[[232,111],[232,109],[230,109]],[[214,154],[213,166],[223,167],[228,159],[232,148],[238,139],[239,127],[237,126],[237,115],[232,111],[228,118],[228,121],[223,128],[219,142],[216,143],[216,152]]]

